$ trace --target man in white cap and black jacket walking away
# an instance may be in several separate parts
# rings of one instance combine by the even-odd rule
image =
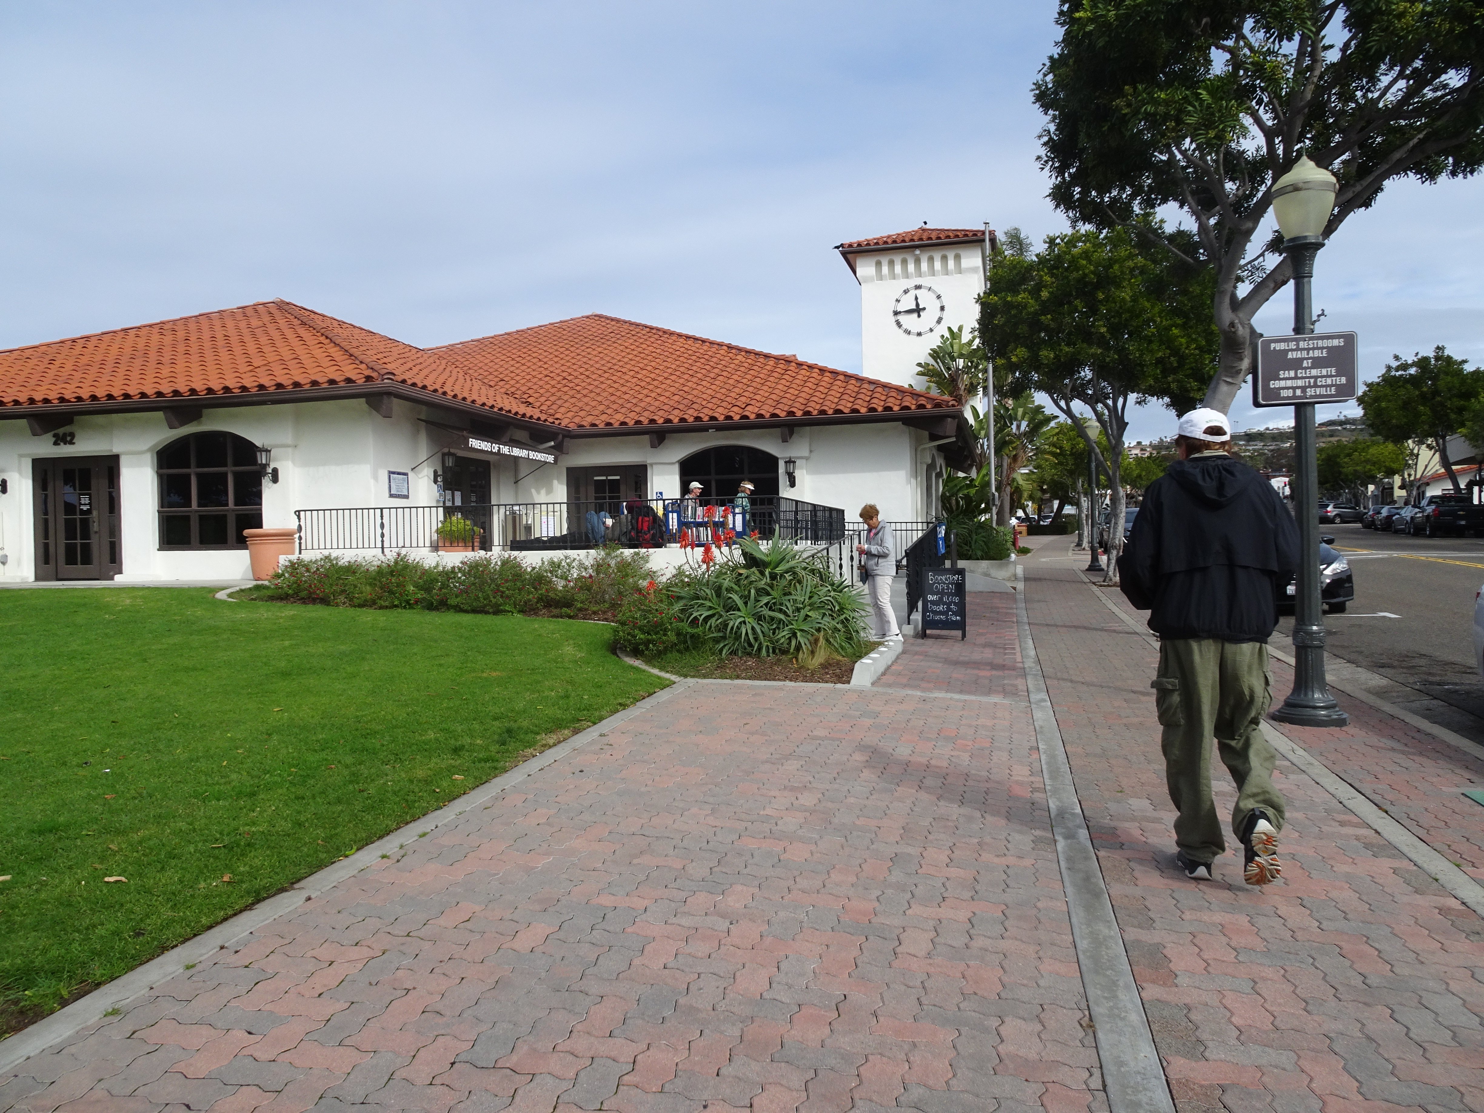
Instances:
[[[1261,733],[1272,699],[1267,638],[1278,625],[1275,585],[1298,567],[1298,527],[1255,470],[1227,456],[1232,426],[1217,410],[1180,418],[1178,460],[1144,491],[1119,558],[1123,594],[1149,610],[1159,635],[1155,711],[1163,727],[1175,859],[1211,879],[1226,853],[1211,798],[1211,739],[1236,782],[1232,831],[1248,884],[1278,880],[1284,798]],[[1309,508],[1300,508],[1307,510]]]

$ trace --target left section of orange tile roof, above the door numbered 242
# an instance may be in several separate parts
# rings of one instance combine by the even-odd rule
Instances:
[[[546,421],[436,355],[282,300],[0,352],[0,411],[375,383]]]

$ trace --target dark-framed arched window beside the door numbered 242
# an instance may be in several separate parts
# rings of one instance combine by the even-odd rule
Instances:
[[[236,433],[191,433],[156,454],[162,549],[245,549],[263,528],[258,450]]]

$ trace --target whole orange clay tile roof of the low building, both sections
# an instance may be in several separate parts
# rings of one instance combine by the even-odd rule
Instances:
[[[418,349],[258,301],[0,352],[0,414],[393,384],[567,429],[956,410],[939,395],[603,315]]]

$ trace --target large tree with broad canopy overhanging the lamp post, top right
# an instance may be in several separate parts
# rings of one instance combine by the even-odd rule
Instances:
[[[1291,278],[1279,234],[1258,234],[1301,154],[1339,180],[1325,236],[1389,181],[1484,165],[1480,0],[1063,0],[1057,22],[1034,86],[1052,202],[1211,270],[1205,405],[1223,413],[1251,371],[1252,315]],[[1193,245],[1144,220],[1165,206]]]

